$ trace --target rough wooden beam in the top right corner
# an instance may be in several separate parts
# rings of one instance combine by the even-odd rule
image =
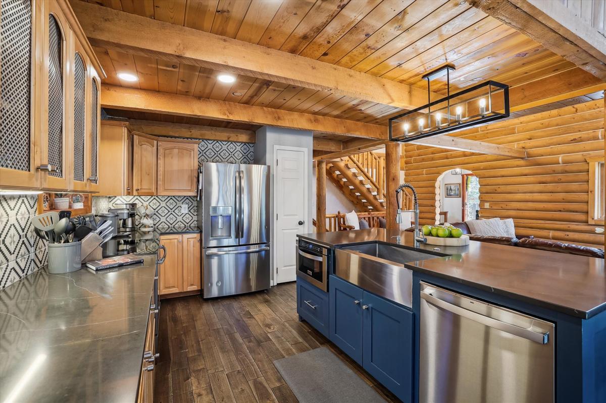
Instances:
[[[545,48],[606,80],[606,40],[558,1],[466,0]]]

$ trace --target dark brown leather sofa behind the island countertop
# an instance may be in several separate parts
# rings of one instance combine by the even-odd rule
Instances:
[[[470,234],[469,227],[462,221],[459,223],[450,223],[453,227],[460,228],[463,234],[469,235],[470,240],[480,242],[490,242],[501,245],[510,245],[518,247],[527,247],[529,249],[540,249],[541,251],[558,252],[561,254],[581,255],[604,259],[604,249],[598,247],[582,246],[574,243],[565,243],[534,237],[492,237],[489,235]]]

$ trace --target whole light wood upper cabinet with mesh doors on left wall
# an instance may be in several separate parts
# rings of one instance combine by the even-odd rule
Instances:
[[[0,139],[10,139],[0,141],[0,188],[95,191],[87,175],[93,172],[92,108],[98,115],[100,104],[93,106],[90,79],[92,70],[99,79],[105,73],[93,48],[68,1],[2,0],[0,8],[2,47],[13,50],[0,57],[5,102]],[[82,110],[75,105],[76,51],[85,67],[84,91],[78,88],[79,102],[84,93],[84,144],[73,141],[74,108]],[[81,125],[78,129],[80,135]],[[81,159],[84,180],[81,171],[75,174]]]

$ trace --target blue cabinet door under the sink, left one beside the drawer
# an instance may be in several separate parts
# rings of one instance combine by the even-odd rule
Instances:
[[[362,289],[330,276],[330,341],[362,365]]]

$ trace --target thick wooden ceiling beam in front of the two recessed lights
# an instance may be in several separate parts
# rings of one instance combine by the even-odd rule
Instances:
[[[331,91],[398,108],[413,109],[427,102],[427,91],[421,88],[308,57],[87,2],[73,1],[72,7],[88,39],[98,47]]]

